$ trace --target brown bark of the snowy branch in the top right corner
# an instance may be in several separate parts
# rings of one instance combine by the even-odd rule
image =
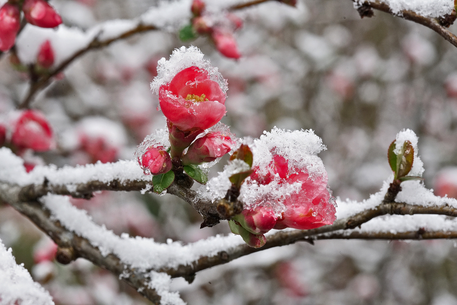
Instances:
[[[356,2],[356,0],[352,0],[352,2]],[[431,17],[420,16],[414,11],[408,10],[403,10],[400,11],[399,14],[394,14],[388,4],[379,0],[366,0],[363,3],[361,3],[361,6],[357,11],[359,11],[359,14],[362,18],[371,17],[373,16],[372,9],[383,11],[393,16],[398,16],[406,20],[414,21],[425,27],[428,27],[433,31],[437,32],[442,37],[444,37],[444,39],[446,39],[448,42],[452,43],[454,47],[457,47],[457,36],[446,28],[446,26],[448,27],[453,23],[453,21],[455,21],[455,11],[452,13],[451,16],[445,16],[444,18],[440,18],[439,20]]]

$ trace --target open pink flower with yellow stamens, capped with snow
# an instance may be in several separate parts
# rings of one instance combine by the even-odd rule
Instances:
[[[225,114],[225,94],[208,71],[192,66],[160,86],[159,102],[165,117],[182,131],[207,129]]]

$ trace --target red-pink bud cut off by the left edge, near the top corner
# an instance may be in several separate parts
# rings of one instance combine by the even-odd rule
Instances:
[[[6,2],[0,8],[0,50],[8,51],[16,40],[17,31],[21,26],[19,7]]]

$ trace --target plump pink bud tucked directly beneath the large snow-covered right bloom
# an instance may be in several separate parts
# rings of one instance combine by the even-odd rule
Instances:
[[[254,210],[244,209],[234,220],[254,234],[264,234],[276,225],[276,216],[270,208],[257,207]]]

